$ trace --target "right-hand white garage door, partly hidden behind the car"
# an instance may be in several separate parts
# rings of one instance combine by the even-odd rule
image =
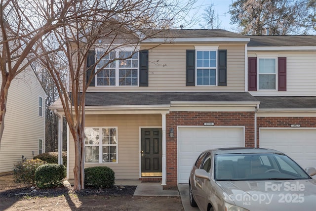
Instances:
[[[283,152],[305,169],[316,167],[316,129],[260,129],[260,147]]]

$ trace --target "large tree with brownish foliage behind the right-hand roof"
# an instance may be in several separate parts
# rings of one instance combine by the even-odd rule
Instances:
[[[243,35],[302,34],[309,15],[309,0],[237,0],[230,5],[231,23]]]

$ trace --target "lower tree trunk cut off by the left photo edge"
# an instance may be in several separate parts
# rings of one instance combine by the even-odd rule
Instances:
[[[2,84],[0,89],[0,146],[1,146],[1,139],[4,130],[4,116],[6,113],[6,101],[8,97],[8,90],[10,87],[11,81],[8,80],[8,75],[2,74]],[[1,148],[0,148],[1,149]]]

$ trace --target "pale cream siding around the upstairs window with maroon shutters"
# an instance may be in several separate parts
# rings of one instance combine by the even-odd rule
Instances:
[[[316,52],[260,52],[286,57],[286,91],[250,91],[254,96],[316,96]],[[248,57],[256,57],[255,52]]]

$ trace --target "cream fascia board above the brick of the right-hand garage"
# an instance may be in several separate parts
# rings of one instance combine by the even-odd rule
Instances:
[[[316,109],[261,109],[257,117],[316,117]]]

